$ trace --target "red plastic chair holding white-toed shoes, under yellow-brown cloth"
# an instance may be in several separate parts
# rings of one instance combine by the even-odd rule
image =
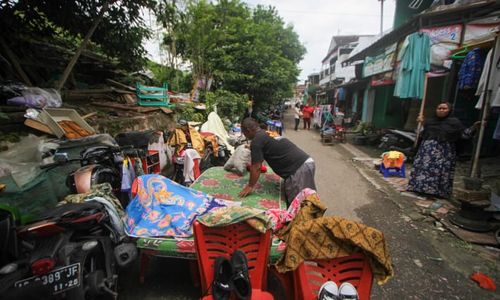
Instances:
[[[323,283],[334,281],[338,286],[350,282],[360,300],[370,299],[373,274],[366,256],[355,253],[327,260],[305,261],[294,271],[295,299],[316,300]]]

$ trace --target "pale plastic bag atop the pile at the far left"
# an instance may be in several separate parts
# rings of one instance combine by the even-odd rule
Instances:
[[[30,87],[22,91],[22,96],[7,100],[7,104],[36,108],[61,107],[62,99],[55,89]]]

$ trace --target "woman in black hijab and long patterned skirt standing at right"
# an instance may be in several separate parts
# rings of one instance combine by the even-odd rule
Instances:
[[[423,116],[417,121],[422,122]],[[453,187],[456,143],[470,138],[477,123],[465,128],[451,116],[450,103],[440,103],[436,115],[424,122],[420,146],[410,173],[408,190],[441,198],[449,198]]]

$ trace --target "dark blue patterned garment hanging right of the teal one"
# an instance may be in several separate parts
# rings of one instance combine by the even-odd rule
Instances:
[[[475,48],[467,53],[458,71],[458,88],[461,90],[476,88],[483,66],[484,58],[481,49]]]

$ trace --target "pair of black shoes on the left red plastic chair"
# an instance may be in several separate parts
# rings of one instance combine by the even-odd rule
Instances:
[[[227,300],[234,292],[238,299],[250,299],[252,287],[248,277],[248,262],[243,251],[236,250],[231,261],[223,256],[215,259],[212,296],[215,300]]]

